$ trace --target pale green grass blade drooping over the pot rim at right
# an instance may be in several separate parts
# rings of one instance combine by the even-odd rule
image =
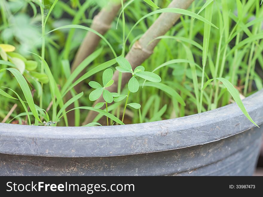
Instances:
[[[222,78],[222,77],[218,77],[218,78],[215,78],[215,79],[218,79],[219,81],[221,81],[227,88],[227,90],[229,91],[229,93],[231,94],[231,96],[233,97],[233,99],[236,101],[236,104],[238,105],[238,107],[241,109],[241,111],[243,112],[243,114],[247,117],[248,120],[250,120],[250,122],[252,122],[253,124],[255,124],[257,127],[259,127],[253,120],[252,118],[250,117],[250,115],[247,113],[247,110],[239,96],[239,92],[236,90],[236,88],[232,85],[232,83],[230,83],[227,79],[225,78]],[[203,87],[203,90],[204,88],[207,87],[207,85],[215,80],[215,79],[210,79],[208,80],[205,84],[204,84],[204,87]]]

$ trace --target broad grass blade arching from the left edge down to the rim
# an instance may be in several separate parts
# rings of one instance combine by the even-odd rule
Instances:
[[[34,100],[33,100],[33,97],[32,97],[32,94],[31,94],[31,91],[30,91],[30,88],[27,84],[27,81],[25,80],[24,76],[18,71],[16,70],[15,68],[5,68],[5,69],[1,69],[0,72],[3,72],[4,70],[8,70],[10,71],[16,78],[17,82],[19,83],[21,89],[22,89],[22,92],[25,96],[25,99],[28,103],[28,106],[32,112],[32,114],[34,115],[34,117],[42,123],[42,121],[40,120],[39,116],[38,116],[38,113],[36,111],[36,107],[35,107],[35,104],[34,104]]]

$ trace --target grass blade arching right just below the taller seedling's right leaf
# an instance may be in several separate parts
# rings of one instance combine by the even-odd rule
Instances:
[[[140,84],[140,86],[142,86],[142,85],[143,84]],[[174,89],[172,89],[168,85],[165,85],[163,83],[145,82],[144,86],[158,88],[158,89],[166,92],[170,96],[174,97],[179,103],[181,103],[181,105],[185,106],[185,102],[184,102],[183,98]]]

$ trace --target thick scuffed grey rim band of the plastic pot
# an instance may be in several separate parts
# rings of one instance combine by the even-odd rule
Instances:
[[[263,123],[263,90],[242,100]],[[0,153],[45,157],[107,157],[174,150],[218,141],[255,127],[236,103],[181,118],[102,127],[0,123]]]

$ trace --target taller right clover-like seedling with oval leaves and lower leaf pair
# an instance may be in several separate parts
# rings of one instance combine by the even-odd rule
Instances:
[[[135,93],[139,90],[140,85],[136,77],[140,77],[140,78],[146,79],[151,82],[160,82],[161,78],[159,75],[155,73],[144,71],[145,68],[143,66],[137,66],[134,70],[132,70],[132,66],[129,63],[129,61],[123,57],[117,57],[116,61],[120,65],[116,67],[116,70],[118,70],[121,73],[131,73],[132,74],[132,77],[128,82],[128,89],[129,89],[128,94],[127,95],[126,94],[116,95],[116,97],[114,98],[114,102],[119,102],[126,98],[126,102],[125,102],[125,106],[123,110],[123,116],[122,116],[122,122],[123,122],[125,110],[127,106],[130,106],[134,109],[140,109],[141,107],[139,103],[128,103],[130,92]]]

